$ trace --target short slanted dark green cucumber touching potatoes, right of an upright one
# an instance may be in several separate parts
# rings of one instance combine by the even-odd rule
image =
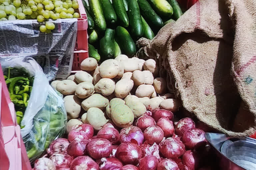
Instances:
[[[129,32],[124,27],[116,27],[115,40],[121,51],[128,56],[133,56],[136,52],[136,46]]]

